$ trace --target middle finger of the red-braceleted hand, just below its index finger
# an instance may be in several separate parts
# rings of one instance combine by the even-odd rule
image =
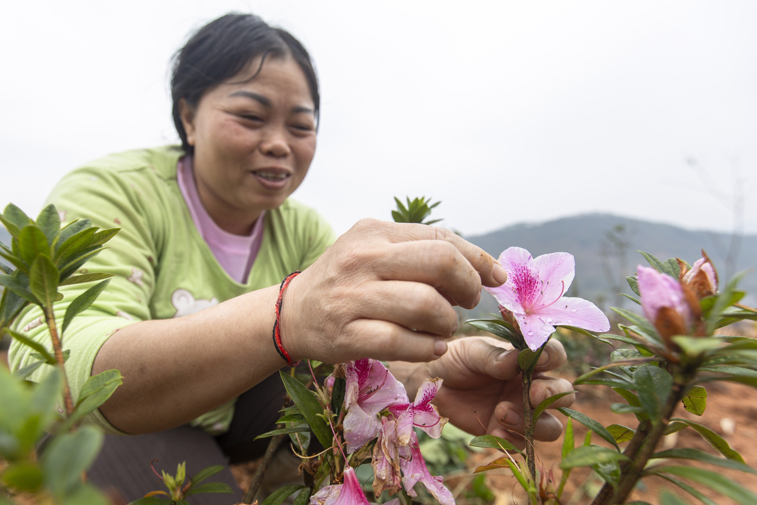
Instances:
[[[424,282],[455,304],[472,308],[481,298],[481,277],[450,242],[416,240],[391,244],[378,266],[382,279]]]

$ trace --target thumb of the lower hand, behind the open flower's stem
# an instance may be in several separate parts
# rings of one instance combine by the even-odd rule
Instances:
[[[508,342],[491,337],[467,337],[465,342],[454,345],[451,352],[466,368],[503,381],[520,373],[518,351]]]

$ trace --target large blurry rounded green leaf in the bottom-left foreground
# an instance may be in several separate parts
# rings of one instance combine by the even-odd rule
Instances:
[[[86,471],[97,457],[103,435],[94,426],[56,435],[42,455],[45,484],[56,497],[65,497],[82,483]]]

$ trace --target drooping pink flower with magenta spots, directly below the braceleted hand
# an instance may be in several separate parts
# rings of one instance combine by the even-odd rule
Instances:
[[[378,413],[391,404],[407,403],[405,387],[378,360],[364,358],[345,366],[344,440],[347,454],[363,447],[381,431]]]

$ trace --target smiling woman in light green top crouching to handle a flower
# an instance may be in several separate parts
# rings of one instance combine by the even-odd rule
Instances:
[[[49,198],[65,221],[121,228],[86,265],[117,275],[67,329],[66,366],[74,397],[90,375],[120,369],[123,385],[88,420],[143,435],[108,437],[92,481],[133,500],[154,486],[144,469],[155,457],[166,469],[187,460],[192,475],[259,456],[266,441],[253,439],[273,429],[283,394],[274,374],[302,358],[393,360],[411,394],[439,376],[436,403],[450,422],[521,444],[506,431],[522,431],[516,353],[494,338],[445,340],[457,328],[453,305],[474,307],[481,284],[505,282],[503,268],[431,226],[363,220],[335,241],[314,210],[288,199],[313,159],[319,114],[300,42],[252,15],[220,17],[177,53],[171,89],[180,147],[93,161]],[[303,273],[284,292],[277,348],[274,305],[294,270]],[[62,288],[58,317],[88,287]],[[26,310],[16,327],[45,341],[39,315]],[[11,348],[14,369],[32,359]],[[553,341],[539,369],[564,361]],[[540,376],[534,405],[569,388]],[[537,438],[561,428],[545,414]]]

